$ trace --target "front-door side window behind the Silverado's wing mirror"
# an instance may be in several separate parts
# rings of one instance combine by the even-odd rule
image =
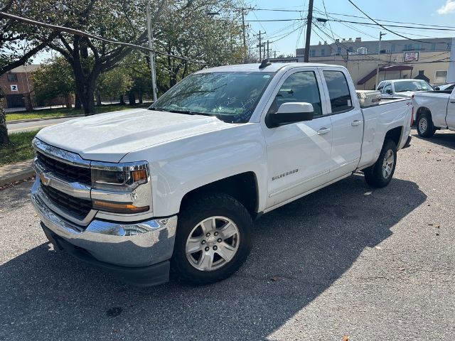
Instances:
[[[313,71],[296,72],[284,81],[277,93],[269,112],[277,112],[280,105],[289,102],[313,104],[314,117],[322,115],[321,96],[318,82]]]

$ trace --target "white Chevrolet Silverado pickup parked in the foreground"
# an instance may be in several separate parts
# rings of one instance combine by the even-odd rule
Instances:
[[[355,171],[386,186],[411,111],[409,99],[361,109],[336,65],[200,70],[148,110],[42,129],[31,197],[55,249],[139,286],[170,269],[213,283],[240,268],[263,213]]]

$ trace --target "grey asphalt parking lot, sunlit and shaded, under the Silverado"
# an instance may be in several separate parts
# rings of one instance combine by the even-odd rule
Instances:
[[[0,192],[0,340],[453,340],[455,133],[395,179],[356,174],[255,222],[226,281],[135,288],[46,243],[24,182]]]

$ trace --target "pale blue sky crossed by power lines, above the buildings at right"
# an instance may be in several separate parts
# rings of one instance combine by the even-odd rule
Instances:
[[[314,0],[315,11],[321,10],[324,12],[323,1],[326,5],[326,10],[329,16],[333,16],[339,19],[347,21],[364,21],[371,22],[368,18],[352,18],[348,16],[340,16],[330,13],[341,13],[353,16],[364,16],[363,13],[355,9],[355,7],[349,3],[348,0]],[[442,26],[455,26],[455,0],[353,0],[353,2],[374,19],[384,19],[388,21],[406,21],[410,23],[422,23],[425,25],[442,25]],[[247,4],[254,7],[255,9],[287,9],[302,11],[308,9],[308,0],[247,0]],[[289,18],[301,18],[306,17],[307,13],[299,12],[279,12],[279,11],[251,11],[247,15],[249,20],[264,20],[264,19],[289,19]],[[316,17],[325,16],[323,13],[314,13]],[[279,51],[277,54],[284,53],[295,54],[296,47],[303,48],[305,44],[305,34],[303,29],[299,28],[302,21],[282,21],[282,22],[249,22],[252,29],[252,33],[258,33],[260,31],[266,31],[265,40],[276,40],[271,45],[271,50]],[[383,22],[382,22],[383,23]],[[395,23],[390,23],[394,25]],[[342,38],[355,38],[361,37],[362,40],[377,40],[380,31],[385,31],[382,28],[365,27],[353,23],[331,23],[331,28],[335,34],[335,38],[341,36]],[[410,24],[397,24],[407,25]],[[403,36],[409,36],[410,38],[429,38],[429,37],[454,37],[454,31],[424,31],[414,30],[409,28],[394,28],[390,27],[392,31],[400,31]],[[295,31],[294,31],[295,30]],[[323,28],[326,33],[330,33],[328,23],[326,28]],[[362,31],[360,33],[358,31]],[[294,33],[291,33],[294,31]],[[314,32],[319,33],[319,38]],[[328,36],[324,36],[319,30],[312,31],[311,44],[317,44],[319,40],[327,40],[331,43],[331,39]],[[289,36],[286,36],[290,33]],[[374,38],[375,37],[375,38]],[[281,38],[281,39],[280,39]],[[279,40],[278,40],[279,39]],[[382,39],[402,39],[399,36],[387,32],[387,35]]]

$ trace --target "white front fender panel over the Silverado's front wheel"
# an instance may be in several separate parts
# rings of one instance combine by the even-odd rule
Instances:
[[[259,124],[232,124],[128,155],[149,161],[155,217],[179,212],[187,193],[232,175],[255,173],[258,210],[267,199],[267,153]]]

